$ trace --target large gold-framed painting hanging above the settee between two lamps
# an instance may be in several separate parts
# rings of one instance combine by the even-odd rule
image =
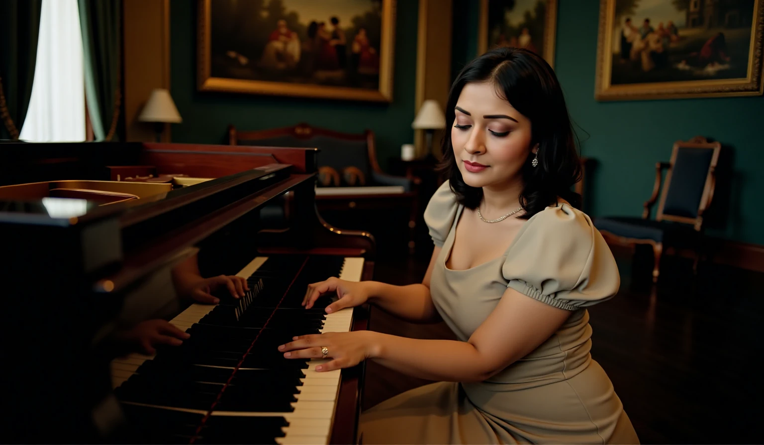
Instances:
[[[197,0],[197,88],[393,99],[396,0]]]

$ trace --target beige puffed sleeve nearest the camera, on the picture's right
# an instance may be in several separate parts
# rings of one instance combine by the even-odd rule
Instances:
[[[568,204],[548,207],[520,229],[502,266],[507,287],[570,311],[618,292],[618,266],[591,219]]]

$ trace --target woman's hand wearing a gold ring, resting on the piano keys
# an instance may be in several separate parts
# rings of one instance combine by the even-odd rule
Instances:
[[[358,365],[373,356],[377,348],[376,334],[374,331],[354,331],[301,335],[281,345],[279,350],[287,359],[320,359],[323,357],[322,347],[325,347],[328,350],[326,358],[333,360],[316,366],[316,371],[332,371]]]

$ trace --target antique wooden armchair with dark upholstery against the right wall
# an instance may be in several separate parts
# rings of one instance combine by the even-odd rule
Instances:
[[[660,275],[664,248],[693,250],[693,270],[697,270],[703,239],[704,212],[714,197],[715,169],[720,150],[720,143],[710,143],[700,136],[688,142],[675,142],[671,161],[656,163],[656,182],[652,196],[643,205],[642,218],[614,216],[594,221],[608,243],[652,246],[655,258],[653,282],[657,282]],[[663,169],[667,173],[662,183]],[[659,194],[656,218],[651,220],[650,210]]]

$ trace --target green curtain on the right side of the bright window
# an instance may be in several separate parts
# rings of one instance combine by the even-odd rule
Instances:
[[[115,140],[120,92],[121,0],[77,0],[85,93],[95,140]]]

